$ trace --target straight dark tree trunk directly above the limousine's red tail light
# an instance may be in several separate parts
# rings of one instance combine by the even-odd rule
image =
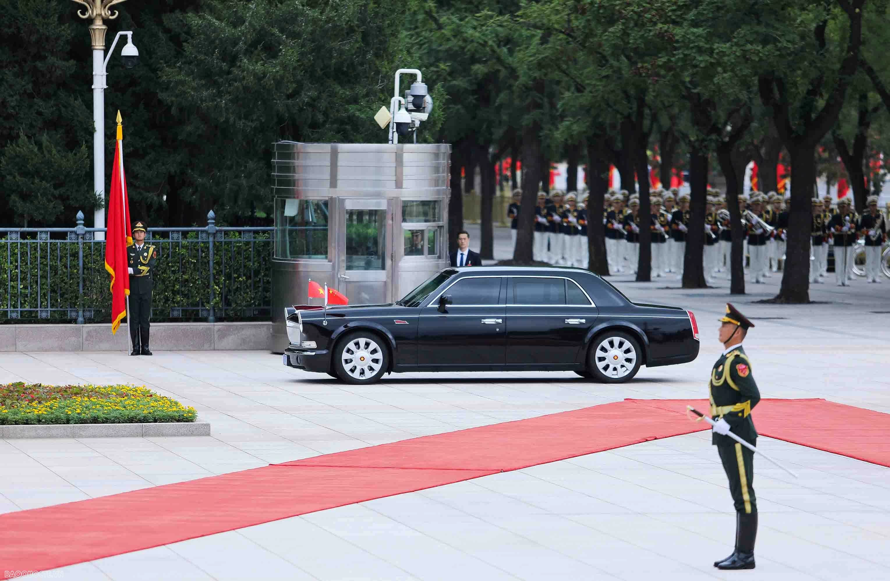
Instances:
[[[705,282],[705,202],[708,197],[708,150],[692,141],[689,155],[689,231],[683,259],[683,287],[707,288]]]

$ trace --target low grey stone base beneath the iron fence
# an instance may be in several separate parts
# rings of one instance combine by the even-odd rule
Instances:
[[[0,351],[126,351],[125,324],[0,325]],[[271,322],[152,323],[151,351],[269,351]]]

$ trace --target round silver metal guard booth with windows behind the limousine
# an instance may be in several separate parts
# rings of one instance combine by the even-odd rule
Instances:
[[[272,350],[312,279],[350,304],[392,303],[448,266],[448,144],[275,143]]]

